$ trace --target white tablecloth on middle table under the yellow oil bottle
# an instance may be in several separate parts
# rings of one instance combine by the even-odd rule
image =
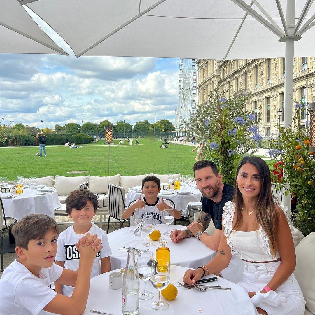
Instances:
[[[135,236],[133,231],[130,229],[135,229],[136,226],[132,227],[124,227],[117,231],[113,231],[107,235],[108,242],[110,244],[112,255],[111,259],[111,267],[112,269],[124,268],[127,263],[127,251],[119,250],[123,246],[133,246],[137,249],[147,249],[147,247],[142,246],[142,243],[147,241],[147,236]],[[155,226],[161,232],[161,238],[158,241],[152,241],[154,243],[154,247],[149,249],[149,251],[153,254],[155,258],[155,251],[157,247],[160,246],[159,241],[163,238],[166,239],[166,247],[170,250],[170,263],[172,265],[184,266],[188,268],[197,268],[200,265],[204,265],[209,262],[215,255],[216,252],[205,244],[200,242],[197,238],[191,237],[186,238],[180,243],[173,243],[169,236],[163,235],[163,232],[166,231],[166,224],[157,224]],[[186,229],[185,226],[180,225],[170,225],[169,229]]]

